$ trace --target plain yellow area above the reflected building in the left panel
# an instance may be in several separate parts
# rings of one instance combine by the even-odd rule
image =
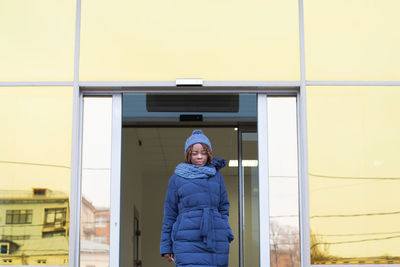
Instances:
[[[70,86],[0,87],[0,163],[5,162],[10,170],[18,165],[9,180],[0,179],[0,188],[51,184],[69,195],[69,178],[60,182],[56,177],[61,173],[68,177],[71,167],[72,92]],[[43,184],[34,185],[32,177]]]

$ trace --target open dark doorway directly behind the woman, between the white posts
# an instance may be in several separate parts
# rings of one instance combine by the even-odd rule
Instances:
[[[259,265],[256,107],[255,94],[124,94],[120,266],[170,266],[159,253],[164,199],[170,176],[184,161],[184,142],[194,129],[202,129],[214,155],[227,161],[221,173],[235,235],[229,266],[243,266],[243,259]],[[242,191],[245,183],[249,189]],[[246,231],[240,219],[245,206]],[[140,236],[132,221],[135,210],[140,214]]]

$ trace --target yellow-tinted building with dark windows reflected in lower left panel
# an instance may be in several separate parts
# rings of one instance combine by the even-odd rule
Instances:
[[[0,191],[0,264],[67,265],[69,198],[47,188]]]

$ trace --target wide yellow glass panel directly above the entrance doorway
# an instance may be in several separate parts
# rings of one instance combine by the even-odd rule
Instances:
[[[82,1],[82,80],[300,79],[298,1],[114,2]]]

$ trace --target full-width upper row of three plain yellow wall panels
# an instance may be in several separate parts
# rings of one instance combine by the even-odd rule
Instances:
[[[82,81],[299,81],[297,0],[82,1]],[[22,8],[23,7],[23,8]],[[304,0],[307,80],[399,81],[397,0]],[[0,82],[72,81],[76,1],[0,2]]]

